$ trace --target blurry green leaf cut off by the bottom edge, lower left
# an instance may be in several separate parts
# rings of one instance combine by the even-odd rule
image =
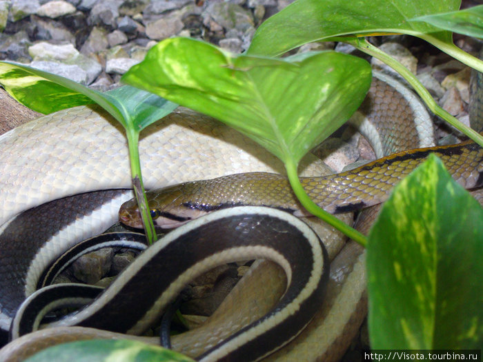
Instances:
[[[47,348],[26,362],[193,362],[166,348],[128,339],[64,343]]]

